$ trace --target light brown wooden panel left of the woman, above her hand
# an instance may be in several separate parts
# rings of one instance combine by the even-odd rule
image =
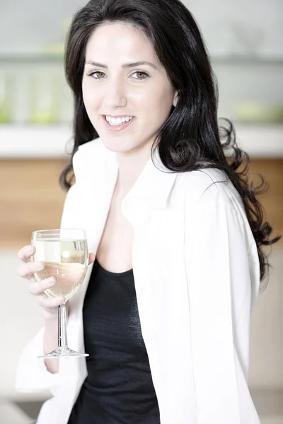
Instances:
[[[20,249],[34,230],[59,228],[63,168],[63,160],[0,161],[0,249]]]

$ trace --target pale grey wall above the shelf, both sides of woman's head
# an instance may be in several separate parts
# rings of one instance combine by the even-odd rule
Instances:
[[[248,47],[241,45],[241,37],[249,32],[255,37],[255,51],[283,55],[282,0],[183,3],[195,15],[212,53],[243,52]],[[33,51],[62,40],[64,21],[84,4],[86,0],[1,0],[0,52]]]

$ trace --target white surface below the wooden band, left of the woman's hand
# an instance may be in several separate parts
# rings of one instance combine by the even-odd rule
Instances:
[[[28,293],[28,281],[16,273],[19,264],[16,251],[0,252],[0,399],[21,397],[14,389],[18,359],[43,323],[41,308]]]

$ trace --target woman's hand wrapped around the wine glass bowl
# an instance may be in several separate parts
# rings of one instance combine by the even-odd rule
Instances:
[[[35,246],[25,246],[18,252],[18,257],[23,261],[23,264],[18,266],[18,275],[30,282],[28,290],[30,294],[35,296],[37,303],[44,308],[46,318],[57,317],[57,307],[64,302],[64,296],[58,298],[49,298],[45,295],[44,290],[52,287],[56,283],[56,278],[45,278],[42,281],[35,281],[34,273],[45,269],[44,262],[32,261],[31,257],[35,254]],[[88,264],[92,264],[95,260],[93,253],[89,254]]]

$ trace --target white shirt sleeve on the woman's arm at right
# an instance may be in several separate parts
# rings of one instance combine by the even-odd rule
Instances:
[[[258,254],[240,201],[217,184],[185,201],[185,265],[197,423],[260,424],[247,384]]]

